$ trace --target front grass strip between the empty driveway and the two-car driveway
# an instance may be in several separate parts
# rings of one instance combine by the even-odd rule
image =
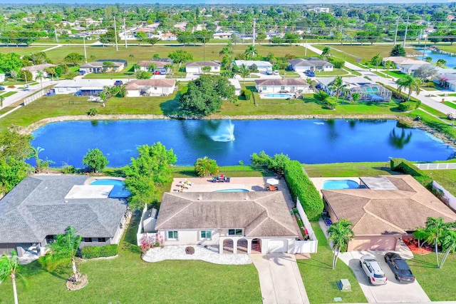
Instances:
[[[328,241],[318,223],[311,224],[318,238],[318,253],[312,254],[309,259],[296,260],[310,303],[334,303],[336,297],[341,297],[343,303],[366,303],[366,297],[351,268],[338,260],[336,268],[332,269],[333,252]],[[337,281],[341,278],[351,282],[351,292],[338,289]]]

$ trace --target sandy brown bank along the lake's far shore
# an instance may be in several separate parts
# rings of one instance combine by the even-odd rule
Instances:
[[[88,116],[88,115],[74,115],[74,116],[56,116],[51,118],[44,118],[40,121],[36,121],[29,126],[21,128],[21,133],[28,133],[31,134],[36,129],[40,128],[41,126],[45,126],[48,123],[57,123],[62,121],[118,121],[118,120],[141,120],[141,119],[177,119],[177,118],[170,118],[169,116],[165,115],[155,115],[155,114],[113,114],[113,115],[96,115],[96,116]],[[367,115],[367,114],[359,114],[359,115],[341,115],[341,116],[334,116],[334,115],[236,115],[236,116],[227,116],[227,115],[211,115],[205,118],[204,120],[211,120],[211,119],[232,119],[234,121],[239,120],[268,120],[268,119],[390,119],[395,121],[405,121],[413,128],[419,128],[420,130],[426,131],[427,133],[432,134],[436,138],[439,138],[444,143],[449,144],[456,148],[456,138],[451,138],[444,133],[440,133],[429,126],[426,126],[421,121],[414,121],[412,118],[407,116],[397,116],[397,115]]]

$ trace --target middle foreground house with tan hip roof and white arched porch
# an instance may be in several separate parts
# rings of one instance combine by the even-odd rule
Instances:
[[[298,226],[281,191],[165,193],[157,233],[165,245],[218,245],[219,253],[291,253]]]

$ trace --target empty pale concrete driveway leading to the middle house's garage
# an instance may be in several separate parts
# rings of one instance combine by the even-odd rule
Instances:
[[[258,270],[264,304],[309,303],[294,255],[271,253],[249,256]]]

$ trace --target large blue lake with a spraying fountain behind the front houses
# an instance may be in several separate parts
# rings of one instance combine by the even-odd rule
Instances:
[[[177,165],[193,165],[208,156],[220,166],[250,163],[252,153],[288,154],[301,163],[446,160],[455,148],[418,129],[403,129],[396,121],[255,120],[255,121],[65,121],[33,132],[32,145],[44,148],[42,159],[53,166],[83,167],[88,149],[99,148],[110,167],[125,166],[138,156],[136,148],[160,141],[177,155]],[[234,126],[234,127],[233,127]],[[229,141],[231,134],[234,141]],[[221,141],[227,138],[228,141]],[[30,163],[34,163],[31,159]]]

